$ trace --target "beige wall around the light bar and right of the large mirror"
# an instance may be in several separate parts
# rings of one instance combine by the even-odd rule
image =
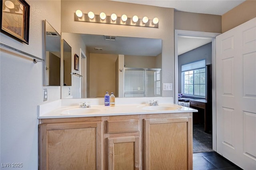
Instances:
[[[164,83],[174,83],[174,9],[146,6],[114,1],[62,1],[61,2],[61,31],[83,34],[116,35],[142,38],[162,39],[162,80]],[[128,17],[137,15],[139,18],[148,16],[149,19],[159,18],[159,28],[124,26],[115,24],[99,24],[90,22],[75,22],[74,12],[93,11],[95,14],[105,12],[110,16],[115,12],[118,16]],[[173,91],[164,91],[164,97],[174,96]]]

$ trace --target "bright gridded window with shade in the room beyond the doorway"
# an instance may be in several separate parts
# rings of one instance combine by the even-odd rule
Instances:
[[[182,93],[188,96],[205,97],[205,60],[182,65]]]

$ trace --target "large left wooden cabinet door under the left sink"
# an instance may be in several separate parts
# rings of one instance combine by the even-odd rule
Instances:
[[[39,125],[40,170],[102,170],[102,122]]]

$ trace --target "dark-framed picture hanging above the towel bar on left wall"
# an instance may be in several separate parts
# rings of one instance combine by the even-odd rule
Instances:
[[[24,0],[1,0],[1,32],[28,44],[30,6]]]

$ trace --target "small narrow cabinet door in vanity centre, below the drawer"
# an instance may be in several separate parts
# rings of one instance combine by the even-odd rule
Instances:
[[[140,138],[108,138],[108,170],[140,170]]]

